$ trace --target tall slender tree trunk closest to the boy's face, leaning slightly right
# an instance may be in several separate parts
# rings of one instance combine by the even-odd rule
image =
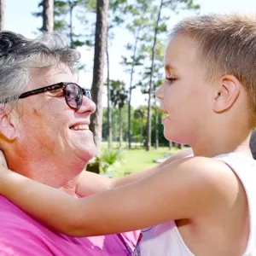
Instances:
[[[151,148],[151,95],[152,95],[152,87],[153,87],[153,73],[154,73],[154,54],[155,54],[155,45],[156,45],[156,37],[159,29],[160,15],[163,6],[163,0],[160,2],[160,8],[158,11],[158,16],[154,28],[154,43],[152,46],[152,60],[151,60],[151,68],[150,68],[150,79],[149,79],[149,90],[148,90],[148,122],[147,122],[147,151]]]

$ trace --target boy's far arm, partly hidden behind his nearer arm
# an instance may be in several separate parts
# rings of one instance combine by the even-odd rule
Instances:
[[[117,179],[103,177],[93,172],[82,172],[81,175],[79,176],[79,182],[76,187],[76,193],[79,196],[84,197],[87,195],[92,195],[98,192],[102,192],[107,189],[113,189],[128,183],[136,182],[139,179],[143,179],[153,174],[157,169],[160,169],[160,167],[166,166],[167,164],[175,160],[180,160],[191,154],[193,154],[193,151],[191,148],[183,149],[177,152],[177,154],[173,154],[170,158],[168,158],[164,162],[160,163],[160,165],[154,166],[153,168],[150,168],[143,172],[136,172],[126,177],[121,177]]]

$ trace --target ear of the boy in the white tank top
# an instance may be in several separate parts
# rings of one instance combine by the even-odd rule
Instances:
[[[235,76],[224,75],[221,78],[221,86],[215,91],[213,110],[220,113],[229,109],[236,102],[241,86],[241,82]]]

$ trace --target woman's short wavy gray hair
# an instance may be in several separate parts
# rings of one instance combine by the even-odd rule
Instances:
[[[78,51],[56,32],[28,39],[9,31],[0,32],[0,102],[13,102],[26,90],[32,70],[64,63],[74,71]]]

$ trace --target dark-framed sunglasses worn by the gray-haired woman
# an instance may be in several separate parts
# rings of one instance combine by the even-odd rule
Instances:
[[[61,82],[58,84],[51,84],[42,88],[38,88],[36,90],[26,91],[18,97],[18,99],[23,99],[28,96],[36,95],[39,93],[44,93],[50,90],[58,90],[63,89],[63,94],[65,96],[65,100],[67,102],[67,106],[73,109],[79,109],[83,103],[83,96],[86,96],[90,100],[92,100],[92,94],[89,89],[84,89],[79,86],[79,84],[75,83],[65,83]],[[8,102],[5,101],[5,102]]]

